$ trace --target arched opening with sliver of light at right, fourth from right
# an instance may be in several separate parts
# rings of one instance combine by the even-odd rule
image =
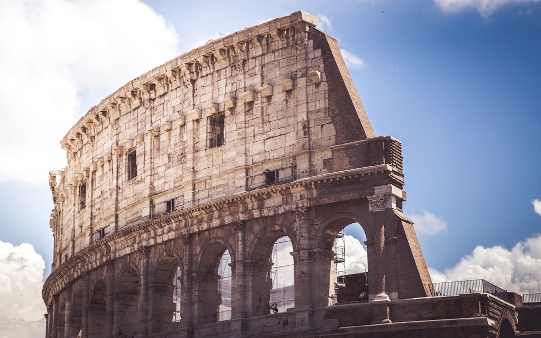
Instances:
[[[163,324],[180,321],[181,276],[175,257],[163,257],[156,265],[148,288],[150,333],[161,332]]]

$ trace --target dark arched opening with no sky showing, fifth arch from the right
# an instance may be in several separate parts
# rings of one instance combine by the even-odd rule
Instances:
[[[139,275],[133,267],[127,267],[118,277],[114,299],[114,328],[118,337],[137,335],[139,322]]]

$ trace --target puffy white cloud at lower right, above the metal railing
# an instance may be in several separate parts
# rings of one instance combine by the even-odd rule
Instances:
[[[432,281],[484,279],[518,293],[541,293],[541,235],[518,242],[511,250],[500,246],[476,247],[454,267],[442,272],[430,269]]]

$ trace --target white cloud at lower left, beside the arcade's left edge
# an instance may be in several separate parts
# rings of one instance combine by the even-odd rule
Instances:
[[[43,336],[47,312],[41,299],[44,268],[42,256],[30,244],[14,247],[0,241],[2,337]]]

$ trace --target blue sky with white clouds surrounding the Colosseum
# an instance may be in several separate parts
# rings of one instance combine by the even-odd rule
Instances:
[[[0,264],[17,253],[50,273],[48,171],[78,117],[219,33],[296,10],[339,41],[376,134],[403,142],[404,211],[433,279],[541,292],[541,2],[527,0],[0,0]]]

